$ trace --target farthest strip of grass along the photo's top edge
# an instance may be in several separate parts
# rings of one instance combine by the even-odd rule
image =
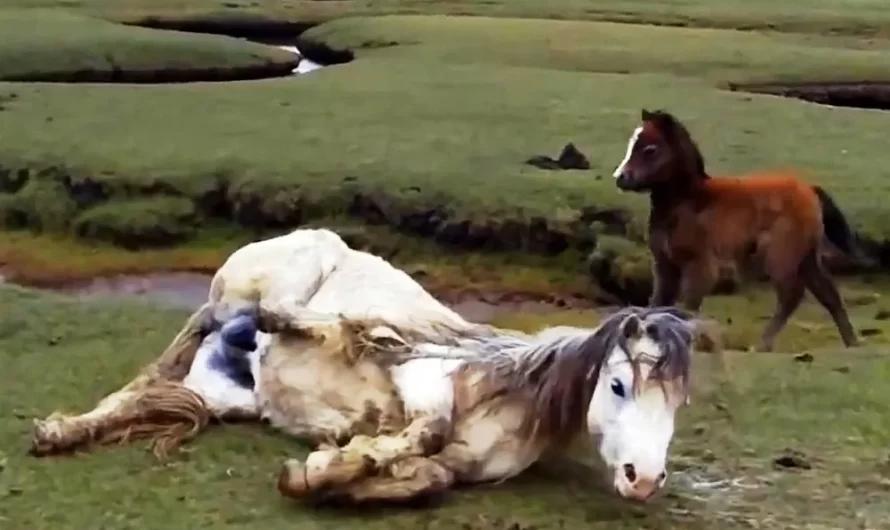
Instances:
[[[8,7],[64,7],[121,20],[246,18],[326,21],[352,15],[443,14],[606,20],[811,33],[890,33],[881,0],[9,0]]]

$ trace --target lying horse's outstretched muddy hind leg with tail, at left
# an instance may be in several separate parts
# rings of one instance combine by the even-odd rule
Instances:
[[[105,444],[151,437],[155,451],[167,449],[197,434],[209,421],[203,399],[185,388],[204,332],[210,307],[203,306],[186,321],[164,353],[124,387],[80,415],[54,412],[34,420],[31,454],[65,452],[91,443]]]

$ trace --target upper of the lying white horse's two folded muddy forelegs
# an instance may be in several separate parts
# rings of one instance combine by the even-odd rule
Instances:
[[[385,469],[392,462],[428,456],[441,450],[451,430],[442,417],[421,417],[396,436],[355,436],[344,447],[322,446],[306,462],[290,459],[278,478],[278,489],[289,497],[324,493]]]

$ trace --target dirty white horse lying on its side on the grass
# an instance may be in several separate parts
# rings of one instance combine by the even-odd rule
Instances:
[[[81,415],[35,421],[32,453],[134,437],[163,453],[212,418],[309,440],[279,490],[405,500],[512,477],[576,435],[623,497],[666,479],[696,332],[685,312],[627,308],[598,328],[528,336],[472,324],[335,233],[249,244],[161,357]]]

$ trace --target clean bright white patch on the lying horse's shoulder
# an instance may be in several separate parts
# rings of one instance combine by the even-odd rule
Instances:
[[[451,418],[454,409],[454,383],[451,373],[460,359],[414,359],[390,369],[407,416],[437,415]]]

